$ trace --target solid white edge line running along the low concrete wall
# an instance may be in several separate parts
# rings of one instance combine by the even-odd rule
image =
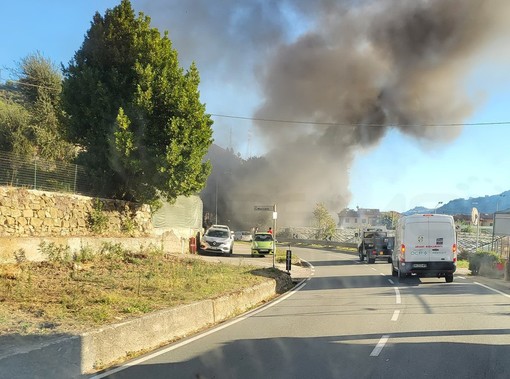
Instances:
[[[312,265],[310,265],[312,267],[312,269],[314,268]],[[152,353],[150,355],[146,355],[146,356],[143,356],[142,358],[139,358],[139,359],[135,359],[134,361],[131,361],[131,362],[128,362],[122,366],[119,366],[113,370],[108,370],[108,371],[105,371],[99,375],[95,375],[93,377],[91,377],[90,379],[101,379],[101,378],[104,378],[106,376],[109,376],[109,375],[112,375],[112,374],[116,374],[117,372],[120,372],[120,371],[123,371],[131,366],[136,366],[142,362],[145,362],[149,359],[152,359],[152,358],[155,358],[159,355],[162,355],[162,354],[165,354],[165,353],[168,353],[169,351],[172,351],[172,350],[175,350],[175,349],[178,349],[182,346],[185,346],[191,342],[194,342],[194,341],[197,341],[203,337],[207,337],[208,335],[210,334],[213,334],[213,333],[216,333],[216,332],[219,332],[220,330],[222,329],[225,329],[225,328],[228,328],[229,326],[231,325],[234,325],[234,324],[237,324],[238,322],[240,321],[244,321],[246,320],[248,317],[251,317],[251,316],[255,316],[256,314],[262,312],[262,311],[265,311],[266,309],[268,308],[271,308],[272,306],[278,304],[278,303],[281,303],[283,300],[287,299],[288,297],[294,295],[297,291],[299,291],[301,288],[303,288],[306,283],[310,280],[310,278],[307,278],[305,280],[303,280],[300,284],[297,285],[297,287],[294,287],[292,289],[292,291],[290,291],[289,293],[283,295],[282,297],[278,298],[277,300],[271,302],[271,303],[268,303],[266,305],[263,305],[261,306],[260,308],[258,309],[255,309],[251,312],[248,312],[246,314],[244,314],[243,316],[240,316],[239,318],[236,318],[232,321],[229,321],[225,324],[222,324],[214,329],[211,329],[211,330],[208,330],[207,332],[204,332],[202,334],[199,334],[199,335],[196,335],[194,337],[191,337],[189,339],[187,339],[186,341],[182,341],[182,342],[178,342],[176,343],[175,345],[172,345],[172,346],[168,346],[167,348],[163,349],[163,350],[159,350],[155,353]]]

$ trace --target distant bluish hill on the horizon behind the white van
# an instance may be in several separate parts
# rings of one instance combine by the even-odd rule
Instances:
[[[477,208],[480,213],[494,213],[496,211],[504,211],[510,209],[510,191],[505,191],[497,195],[485,195],[482,197],[470,197],[469,199],[455,199],[440,206],[436,213],[444,213],[450,215],[470,215],[471,210]],[[425,207],[415,207],[406,212],[404,215],[416,213],[430,213],[434,209]]]

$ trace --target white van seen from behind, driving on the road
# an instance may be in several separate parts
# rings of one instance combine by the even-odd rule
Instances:
[[[444,277],[450,283],[456,269],[457,237],[452,216],[417,214],[400,218],[392,255],[393,276]]]

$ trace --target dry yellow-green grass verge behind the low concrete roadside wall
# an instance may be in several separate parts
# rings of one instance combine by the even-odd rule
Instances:
[[[86,331],[158,309],[238,291],[277,275],[207,263],[154,248],[101,251],[42,246],[48,261],[0,265],[0,335]]]

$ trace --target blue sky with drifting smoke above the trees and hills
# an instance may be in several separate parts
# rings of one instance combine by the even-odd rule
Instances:
[[[0,82],[35,52],[67,65],[94,13],[119,2],[2,1]],[[510,189],[509,2],[429,3],[132,0],[169,31],[183,67],[196,62],[215,143],[267,155],[282,186],[316,191],[332,211]]]

